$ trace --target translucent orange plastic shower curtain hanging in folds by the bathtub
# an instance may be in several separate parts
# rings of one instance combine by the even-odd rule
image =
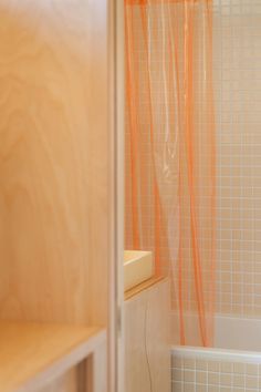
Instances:
[[[125,0],[126,247],[170,275],[173,331],[211,345],[215,118],[208,0]],[[175,338],[174,338],[175,339]],[[175,341],[177,343],[177,340]]]

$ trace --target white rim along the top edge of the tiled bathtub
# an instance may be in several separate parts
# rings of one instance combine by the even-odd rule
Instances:
[[[244,350],[226,350],[216,348],[199,348],[190,345],[173,345],[171,354],[178,358],[207,359],[223,362],[244,362],[261,364],[261,352]]]

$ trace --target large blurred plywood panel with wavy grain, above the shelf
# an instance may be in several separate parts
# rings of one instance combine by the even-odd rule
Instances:
[[[0,0],[2,319],[106,322],[106,0]]]

